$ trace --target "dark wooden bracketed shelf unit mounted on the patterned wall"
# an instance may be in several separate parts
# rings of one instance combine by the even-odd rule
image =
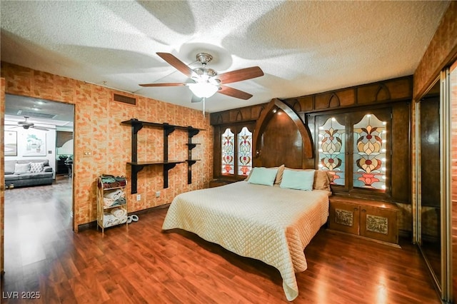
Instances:
[[[202,129],[193,128],[191,126],[174,126],[169,123],[151,123],[149,121],[139,121],[136,118],[131,118],[129,121],[122,121],[121,123],[131,126],[131,161],[128,162],[131,166],[131,194],[137,193],[138,173],[143,170],[145,166],[164,166],[164,188],[169,187],[169,170],[174,168],[178,163],[188,164],[187,182],[192,183],[192,165],[199,160],[192,159],[191,150],[199,143],[192,143],[192,137],[196,136]],[[164,130],[164,160],[161,161],[138,161],[138,137],[137,134],[141,128],[161,128]],[[169,135],[175,130],[187,131],[188,134],[188,156],[186,161],[169,161]]]

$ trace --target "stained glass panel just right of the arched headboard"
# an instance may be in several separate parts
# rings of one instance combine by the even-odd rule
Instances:
[[[344,186],[345,183],[345,134],[345,126],[333,117],[319,127],[318,166],[320,170],[330,173],[334,185]]]

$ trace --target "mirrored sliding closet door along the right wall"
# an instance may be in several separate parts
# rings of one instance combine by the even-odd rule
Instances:
[[[456,64],[453,64],[455,67]],[[456,69],[446,68],[416,103],[416,242],[441,299],[453,298],[451,208],[452,98]],[[457,137],[457,136],[455,136]]]

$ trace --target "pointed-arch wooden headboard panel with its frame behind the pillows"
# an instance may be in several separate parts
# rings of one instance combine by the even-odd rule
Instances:
[[[314,168],[308,126],[286,103],[274,98],[263,108],[253,133],[253,166]]]

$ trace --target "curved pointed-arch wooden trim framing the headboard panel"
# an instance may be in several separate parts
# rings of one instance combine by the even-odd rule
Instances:
[[[256,122],[256,132],[253,134],[253,147],[256,149],[255,157],[260,156],[262,148],[261,136],[263,135],[271,117],[273,117],[276,113],[274,110],[277,108],[280,108],[284,113],[286,113],[297,126],[303,142],[303,156],[305,158],[313,158],[313,142],[311,141],[311,132],[309,131],[308,126],[303,123],[301,118],[297,115],[297,113],[295,113],[295,111],[293,111],[292,108],[290,108],[286,103],[283,103],[283,101],[280,101],[278,98],[271,99],[263,111],[261,111],[261,115]]]

